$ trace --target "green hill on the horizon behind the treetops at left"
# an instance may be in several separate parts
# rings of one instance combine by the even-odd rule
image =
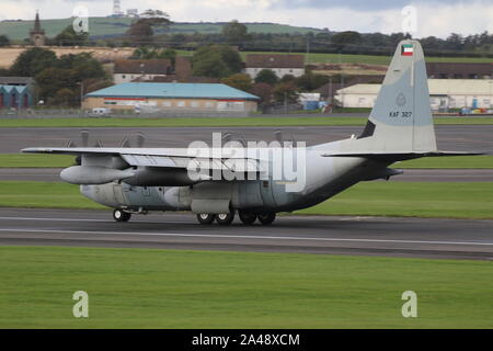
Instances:
[[[115,36],[124,34],[131,24],[133,19],[116,19],[116,18],[90,18],[89,32],[91,37]],[[72,19],[61,20],[43,20],[42,27],[45,30],[47,36],[53,37],[60,33],[67,25],[72,22]],[[28,32],[33,27],[34,21],[2,21],[0,22],[0,34],[7,35],[13,41],[22,41],[28,37]],[[174,23],[167,31],[167,33],[220,33],[223,23]],[[319,33],[319,29],[291,26],[275,23],[245,23],[250,33]],[[159,32],[158,32],[159,33]]]

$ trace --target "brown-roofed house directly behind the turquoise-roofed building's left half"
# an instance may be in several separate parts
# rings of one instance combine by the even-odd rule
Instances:
[[[172,73],[169,59],[118,59],[115,60],[113,80],[115,84],[130,81],[151,81]]]

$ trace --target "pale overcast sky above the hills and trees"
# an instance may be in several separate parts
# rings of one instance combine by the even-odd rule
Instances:
[[[493,0],[122,0],[122,9],[160,9],[176,22],[275,22],[331,31],[393,33],[402,31],[402,8],[416,9],[414,36],[445,37],[493,32]],[[0,20],[68,18],[83,3],[90,15],[112,12],[113,0],[0,0]]]

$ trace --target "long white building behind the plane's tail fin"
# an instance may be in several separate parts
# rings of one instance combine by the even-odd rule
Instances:
[[[372,107],[381,84],[355,84],[336,91],[343,107]],[[432,110],[492,109],[492,79],[428,79]]]

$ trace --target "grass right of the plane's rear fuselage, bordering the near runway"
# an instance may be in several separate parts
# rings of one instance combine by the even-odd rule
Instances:
[[[493,182],[362,182],[298,213],[493,218]]]

